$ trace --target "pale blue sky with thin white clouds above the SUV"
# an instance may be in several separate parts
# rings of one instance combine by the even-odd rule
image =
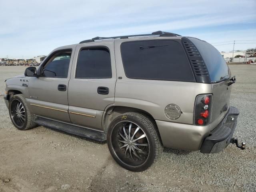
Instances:
[[[0,0],[0,58],[48,55],[96,36],[167,31],[219,51],[256,48],[256,0]]]

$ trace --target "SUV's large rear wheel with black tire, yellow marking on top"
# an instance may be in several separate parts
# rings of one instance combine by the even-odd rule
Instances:
[[[137,128],[140,129],[136,132]],[[126,130],[125,133],[124,129]],[[128,138],[130,138],[128,142],[124,137],[121,136],[124,136],[125,134],[128,136]],[[134,141],[134,138],[138,139],[142,136],[142,134],[146,135],[146,137]],[[107,142],[108,149],[114,160],[116,160],[116,162],[123,168],[134,172],[144,171],[150,167],[154,161],[162,154],[163,150],[160,137],[157,132],[156,123],[149,116],[139,112],[127,112],[117,116],[110,123],[108,128]],[[147,142],[148,146],[146,146]],[[133,148],[132,150],[129,148],[130,153],[129,151],[126,152],[127,148],[133,145],[131,143],[135,143],[134,145],[136,145],[137,148],[140,148],[139,150],[142,152],[147,152],[147,155],[142,154],[142,152],[139,150],[135,150],[136,148]],[[126,144],[128,145],[125,146]],[[137,146],[142,144],[144,146]]]

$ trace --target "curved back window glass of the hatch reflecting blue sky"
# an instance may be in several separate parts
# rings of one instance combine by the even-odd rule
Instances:
[[[230,77],[230,70],[220,52],[211,44],[196,38],[189,38],[200,52],[207,66],[212,82],[218,82]]]

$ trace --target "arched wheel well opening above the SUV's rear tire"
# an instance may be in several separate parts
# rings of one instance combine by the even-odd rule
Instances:
[[[150,113],[148,113],[144,110],[141,110],[141,109],[132,108],[132,107],[124,107],[124,106],[112,106],[112,107],[108,108],[108,110],[106,111],[105,116],[104,116],[104,122],[103,122],[104,132],[108,131],[109,124],[112,122],[112,120],[114,120],[114,118],[116,118],[120,114],[123,114],[126,112],[140,112],[140,113],[146,114],[147,116],[152,118],[152,120],[155,122],[155,126],[156,126],[157,132],[159,134],[159,130],[158,130],[156,121]],[[159,137],[160,137],[160,134],[159,134]]]

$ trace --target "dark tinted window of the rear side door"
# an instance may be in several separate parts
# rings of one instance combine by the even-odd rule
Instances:
[[[107,48],[85,48],[78,56],[76,78],[111,78],[110,53]]]

